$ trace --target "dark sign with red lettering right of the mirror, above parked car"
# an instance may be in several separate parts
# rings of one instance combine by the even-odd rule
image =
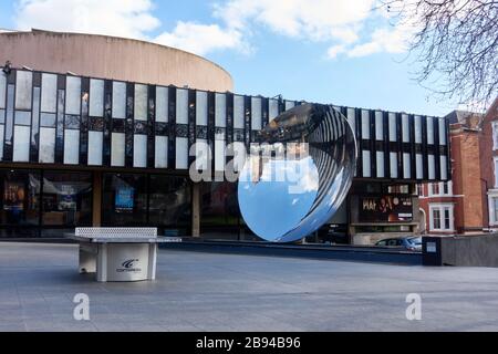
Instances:
[[[412,197],[381,196],[360,198],[360,221],[396,222],[412,220]]]

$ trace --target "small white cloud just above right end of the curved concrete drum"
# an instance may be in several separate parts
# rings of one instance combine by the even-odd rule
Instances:
[[[242,42],[242,33],[236,29],[222,29],[218,24],[199,24],[179,21],[172,32],[157,37],[155,42],[205,55],[210,51],[236,49],[249,51]]]

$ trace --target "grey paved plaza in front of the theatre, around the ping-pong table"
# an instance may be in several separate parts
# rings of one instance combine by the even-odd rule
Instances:
[[[166,250],[155,282],[97,283],[76,246],[0,243],[0,331],[497,331],[497,294],[498,269]]]

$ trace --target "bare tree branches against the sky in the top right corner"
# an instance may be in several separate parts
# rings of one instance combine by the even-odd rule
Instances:
[[[381,0],[396,24],[412,23],[416,80],[443,98],[480,108],[498,95],[498,1]]]

